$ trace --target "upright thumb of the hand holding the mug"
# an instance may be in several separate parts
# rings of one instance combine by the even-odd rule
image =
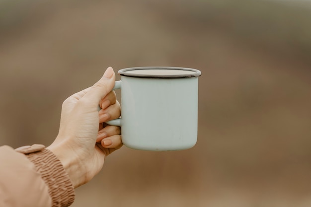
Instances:
[[[103,99],[113,88],[116,75],[111,67],[106,69],[103,76],[98,80],[87,93],[81,98],[88,104],[97,107],[100,100]]]

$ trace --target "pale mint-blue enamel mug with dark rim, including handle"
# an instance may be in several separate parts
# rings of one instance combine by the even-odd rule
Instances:
[[[168,151],[193,147],[198,131],[198,77],[201,71],[177,67],[120,69],[121,127],[124,145]]]

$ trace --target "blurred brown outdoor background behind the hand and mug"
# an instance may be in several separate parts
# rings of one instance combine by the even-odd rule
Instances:
[[[294,2],[1,0],[0,145],[49,145],[108,66],[195,68],[197,145],[122,147],[73,207],[310,207],[311,3]]]

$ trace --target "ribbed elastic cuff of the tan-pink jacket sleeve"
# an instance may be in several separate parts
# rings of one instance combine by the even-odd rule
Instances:
[[[61,161],[48,149],[26,154],[49,186],[52,207],[68,207],[75,201],[75,189]]]

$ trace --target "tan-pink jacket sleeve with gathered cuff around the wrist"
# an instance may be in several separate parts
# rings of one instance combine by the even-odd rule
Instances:
[[[0,147],[0,207],[68,207],[74,200],[67,172],[44,145]]]

